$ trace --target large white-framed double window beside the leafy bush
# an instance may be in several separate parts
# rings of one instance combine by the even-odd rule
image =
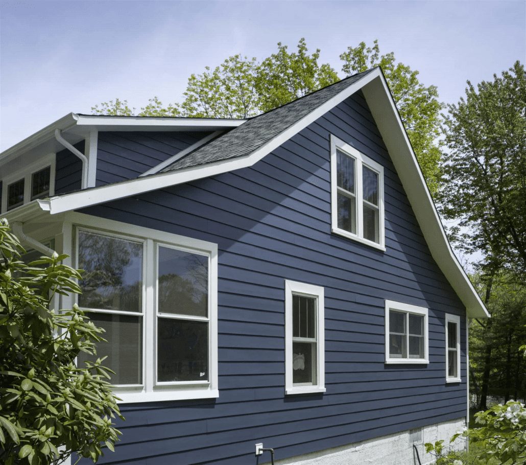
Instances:
[[[82,215],[77,303],[124,402],[218,397],[217,244]],[[92,360],[79,355],[79,362]]]

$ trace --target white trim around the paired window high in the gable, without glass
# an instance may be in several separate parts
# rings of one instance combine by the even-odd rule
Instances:
[[[337,182],[337,155],[336,151],[340,150],[356,160],[356,179],[355,179],[355,198],[356,198],[356,229],[357,234],[340,229],[338,227],[338,182]],[[372,171],[378,174],[378,211],[379,211],[379,238],[380,242],[376,243],[363,237],[363,191],[362,191],[362,165],[366,165]],[[370,245],[375,249],[386,250],[385,246],[385,219],[383,205],[383,166],[371,160],[368,156],[359,152],[351,145],[343,142],[338,137],[331,134],[330,136],[330,184],[331,184],[331,231],[335,234],[352,239],[362,244]]]

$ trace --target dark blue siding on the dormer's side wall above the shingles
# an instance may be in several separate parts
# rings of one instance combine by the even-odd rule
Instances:
[[[99,132],[96,185],[132,179],[209,132]]]

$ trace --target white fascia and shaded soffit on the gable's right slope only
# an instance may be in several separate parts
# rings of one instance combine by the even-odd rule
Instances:
[[[433,259],[466,306],[468,315],[471,318],[489,318],[490,314],[451,248],[385,77],[380,73],[380,79],[363,86],[362,92]]]

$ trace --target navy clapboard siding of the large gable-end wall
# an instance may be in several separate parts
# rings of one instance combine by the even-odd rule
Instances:
[[[331,133],[385,167],[385,253],[330,233]],[[219,249],[219,398],[123,405],[100,463],[245,465],[256,442],[282,459],[466,414],[465,318],[462,383],[445,382],[444,341],[444,314],[465,310],[361,94],[250,168],[83,212]],[[285,279],[325,288],[325,394],[284,395]],[[384,363],[385,299],[429,308],[429,365]]]

